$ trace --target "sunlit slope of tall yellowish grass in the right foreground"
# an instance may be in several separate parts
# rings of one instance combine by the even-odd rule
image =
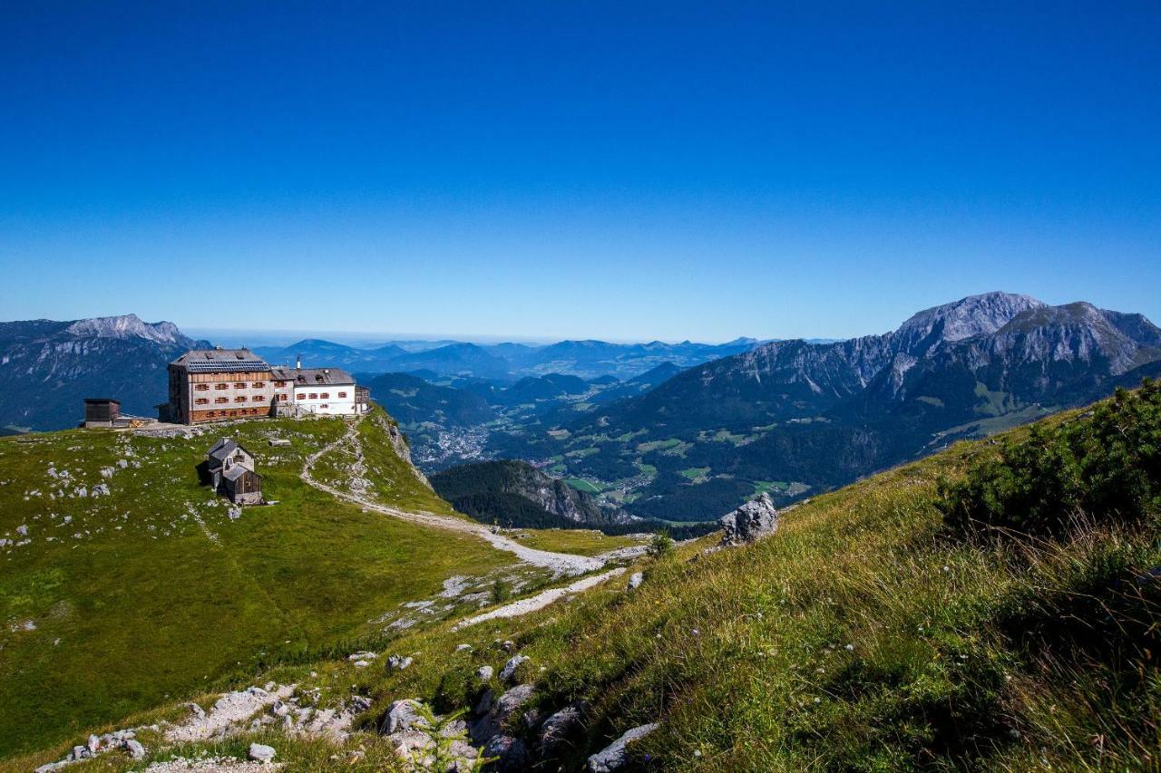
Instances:
[[[1133,579],[1161,566],[1156,519],[1039,544],[939,537],[937,482],[994,453],[960,443],[817,497],[753,546],[687,546],[647,562],[632,593],[614,580],[525,617],[404,636],[391,644],[416,656],[404,672],[329,660],[264,678],[373,694],[373,714],[404,696],[444,711],[471,702],[473,671],[502,665],[492,642],[512,638],[533,658],[525,678],[542,708],[591,706],[568,770],[658,718],[635,752],[662,770],[1155,767],[1155,652],[1094,645],[1110,627],[1161,619],[1155,587]],[[1139,619],[1109,588],[1144,599],[1130,607]],[[358,743],[389,759],[377,736]],[[280,745],[293,770],[322,770],[294,744]]]

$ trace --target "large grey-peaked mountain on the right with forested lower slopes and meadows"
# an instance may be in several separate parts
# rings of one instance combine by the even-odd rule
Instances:
[[[1088,303],[989,292],[845,341],[772,341],[493,453],[556,460],[647,518],[788,501],[1161,373],[1161,331]]]

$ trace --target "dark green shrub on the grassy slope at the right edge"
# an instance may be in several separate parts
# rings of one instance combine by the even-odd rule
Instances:
[[[1161,384],[1146,380],[1091,414],[1033,425],[939,494],[944,522],[958,534],[1051,536],[1080,519],[1140,522],[1161,506]]]

